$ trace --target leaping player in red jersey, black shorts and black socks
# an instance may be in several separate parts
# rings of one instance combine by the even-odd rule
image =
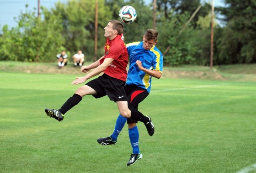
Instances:
[[[71,84],[78,85],[84,83],[88,79],[104,74],[97,79],[94,79],[86,85],[79,87],[75,94],[70,97],[60,109],[45,109],[45,113],[62,121],[64,114],[78,104],[83,96],[92,95],[95,98],[100,98],[108,95],[110,100],[116,102],[120,114],[126,118],[132,118],[137,121],[144,122],[148,133],[154,134],[154,125],[150,116],[144,116],[136,109],[129,109],[126,92],[125,81],[127,77],[126,67],[128,64],[128,52],[123,41],[123,24],[117,20],[110,20],[108,25],[104,28],[106,37],[105,54],[98,61],[83,66],[81,71],[84,73],[94,69],[84,77],[76,77],[76,80]]]

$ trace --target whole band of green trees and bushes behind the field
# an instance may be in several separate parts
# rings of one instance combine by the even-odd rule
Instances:
[[[200,3],[202,7],[184,29]],[[224,0],[224,3],[225,7],[216,8],[226,25],[214,24],[214,65],[256,63],[256,3],[253,0]],[[134,23],[124,24],[126,43],[141,41],[146,29],[153,28],[152,4],[146,5],[144,0],[98,0],[97,57],[104,53],[104,27],[111,19],[119,20],[118,12],[127,4],[136,9],[138,16]],[[164,63],[209,65],[211,4],[200,0],[158,0],[156,5],[157,47],[164,53],[170,46]],[[42,7],[41,18],[35,12],[21,13],[17,27],[1,28],[0,60],[56,61],[60,49],[66,49],[69,57],[81,49],[87,61],[93,61],[95,8],[95,1],[68,0],[58,1],[50,10]]]

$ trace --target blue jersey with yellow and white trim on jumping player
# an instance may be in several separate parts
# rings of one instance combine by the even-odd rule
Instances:
[[[157,70],[162,73],[163,55],[155,45],[150,50],[145,50],[142,45],[142,41],[126,44],[128,55],[130,55],[130,67],[126,83],[145,88],[149,93],[152,77],[141,71],[136,65],[136,61],[141,61],[142,66],[146,69]]]

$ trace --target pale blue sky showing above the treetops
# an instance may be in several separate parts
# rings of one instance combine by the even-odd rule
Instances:
[[[68,0],[40,0],[40,5],[48,9],[54,8],[58,1],[67,2]],[[145,0],[151,2],[151,0]],[[9,29],[17,26],[14,17],[18,17],[20,12],[25,12],[25,5],[28,4],[30,10],[37,9],[38,0],[0,0],[0,28],[8,24]],[[214,0],[214,6],[224,6],[222,0]],[[37,12],[37,10],[36,10]]]

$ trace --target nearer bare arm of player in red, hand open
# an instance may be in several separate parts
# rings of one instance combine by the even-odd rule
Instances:
[[[108,65],[110,65],[110,63],[112,63],[112,61],[114,61],[114,59],[112,59],[112,58],[104,59],[103,63],[101,65],[99,65],[98,67],[96,67],[96,69],[94,69],[94,71],[92,71],[91,73],[88,73],[84,77],[76,77],[76,80],[72,81],[71,84],[78,85],[80,83],[84,83],[85,81],[87,81],[88,79],[90,79],[94,76],[97,76],[102,71],[106,70],[106,68],[108,67]]]

